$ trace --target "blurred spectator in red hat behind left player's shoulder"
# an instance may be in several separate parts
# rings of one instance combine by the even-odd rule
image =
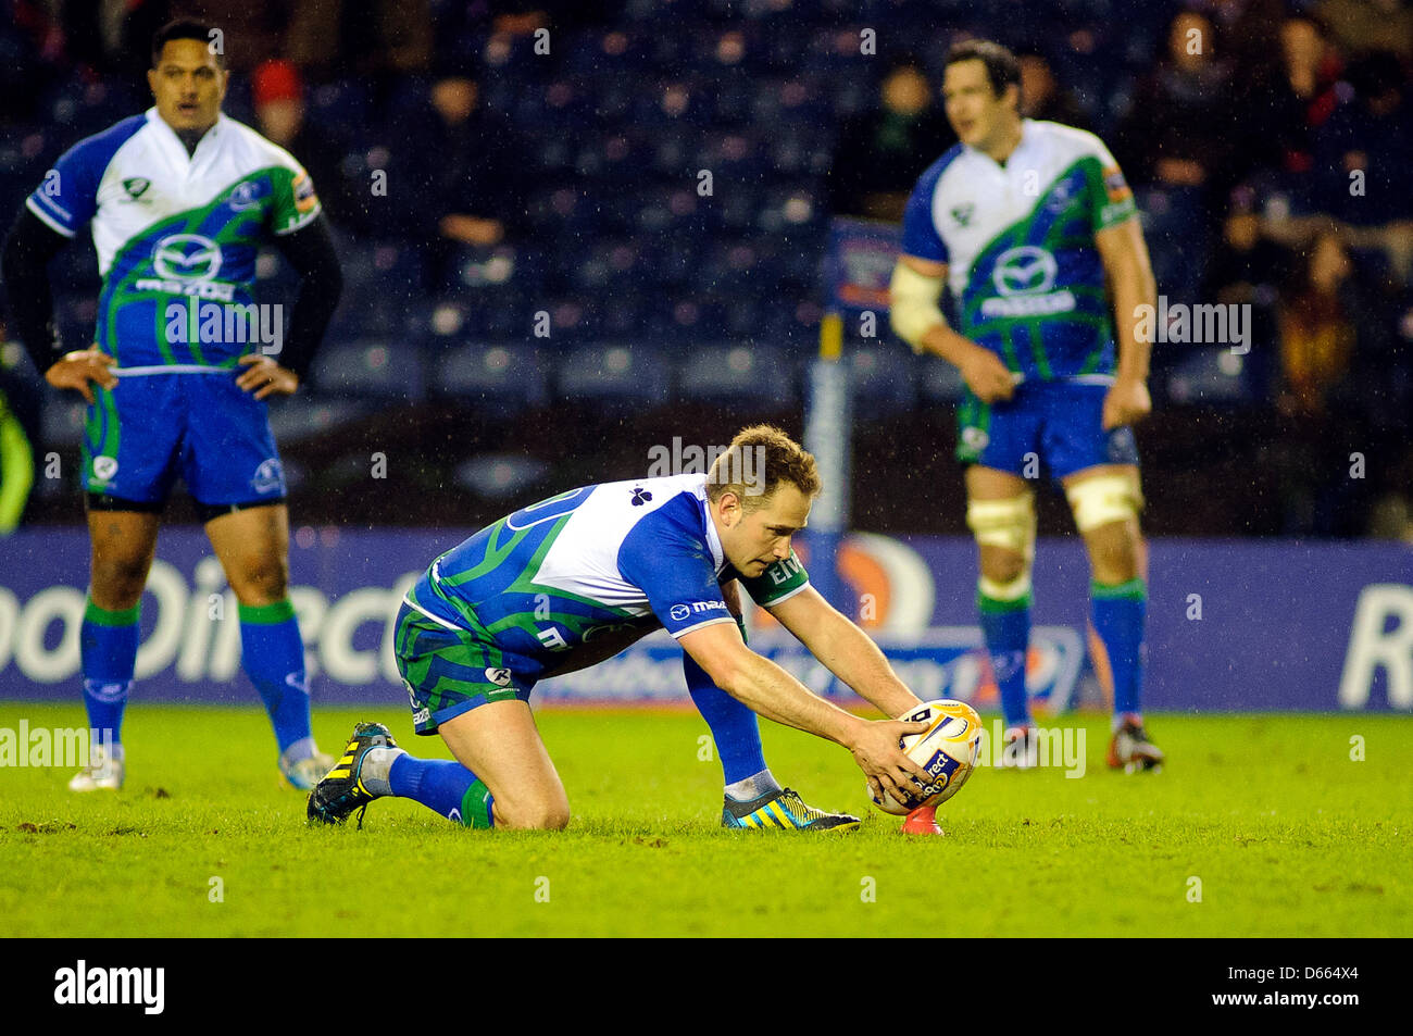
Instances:
[[[288,61],[266,61],[250,75],[250,96],[256,129],[304,165],[329,222],[341,230],[366,230],[367,211],[345,182],[338,143],[305,119],[300,69]]]

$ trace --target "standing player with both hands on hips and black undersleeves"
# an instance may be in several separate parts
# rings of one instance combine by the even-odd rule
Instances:
[[[69,148],[27,199],[4,249],[14,328],[35,367],[89,403],[83,700],[89,725],[113,750],[90,756],[69,782],[78,791],[124,779],[122,722],[140,601],[178,476],[239,602],[242,661],[270,712],[280,772],[309,789],[331,762],[309,732],[304,643],[287,588],[284,473],[266,400],[298,387],[342,277],[308,174],[222,114],[227,73],[218,38],[191,20],[158,30],[147,73],[154,107]],[[97,326],[92,348],[61,353],[45,264],[85,225],[103,274]],[[264,243],[277,245],[301,278],[287,331],[278,307],[257,307],[250,294]],[[283,336],[278,360],[261,349],[274,336]]]

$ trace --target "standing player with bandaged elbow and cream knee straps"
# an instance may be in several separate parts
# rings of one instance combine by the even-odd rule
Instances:
[[[1020,117],[1020,68],[1003,47],[954,47],[942,93],[961,143],[909,201],[892,321],[914,351],[954,363],[966,382],[957,458],[981,548],[976,602],[1006,717],[1006,759],[1024,766],[1034,756],[1026,698],[1030,479],[1044,465],[1089,553],[1091,615],[1113,674],[1109,765],[1149,769],[1163,753],[1142,715],[1147,588],[1129,425],[1152,410],[1149,345],[1137,339],[1136,314],[1157,290],[1133,195],[1092,133]],[[958,329],[938,308],[944,286],[958,304]]]

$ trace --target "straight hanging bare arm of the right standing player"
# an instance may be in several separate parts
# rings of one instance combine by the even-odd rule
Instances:
[[[1140,305],[1157,304],[1157,281],[1137,218],[1099,230],[1094,243],[1113,300],[1119,348],[1113,387],[1104,400],[1104,430],[1108,431],[1135,424],[1153,410],[1147,390],[1150,345],[1137,338],[1136,314]]]

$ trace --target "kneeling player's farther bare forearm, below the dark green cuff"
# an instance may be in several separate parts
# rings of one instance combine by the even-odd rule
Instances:
[[[831,673],[885,715],[903,715],[923,704],[897,678],[872,637],[825,601],[814,587],[805,587],[767,611]]]

